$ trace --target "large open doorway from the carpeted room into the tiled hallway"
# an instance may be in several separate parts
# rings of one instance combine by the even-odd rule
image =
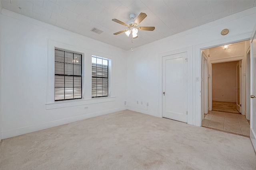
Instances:
[[[249,47],[248,40],[202,50],[203,127],[250,136],[246,102]]]

